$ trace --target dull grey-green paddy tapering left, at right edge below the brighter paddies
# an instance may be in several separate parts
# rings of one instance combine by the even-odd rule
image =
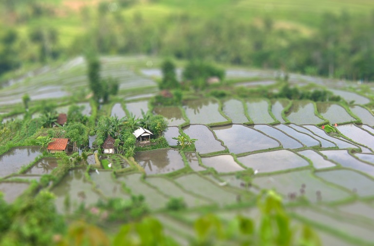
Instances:
[[[328,182],[349,189],[359,196],[374,195],[374,181],[351,170],[331,170],[316,172],[316,175]]]

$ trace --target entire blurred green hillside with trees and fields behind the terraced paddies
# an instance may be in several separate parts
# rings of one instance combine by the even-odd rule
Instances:
[[[372,0],[2,0],[0,81],[100,54],[374,79]]]

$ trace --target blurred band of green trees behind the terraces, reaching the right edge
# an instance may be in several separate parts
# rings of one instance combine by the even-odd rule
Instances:
[[[369,64],[374,60],[374,14],[326,13],[318,19],[316,28],[305,34],[297,28],[275,27],[270,17],[251,23],[222,16],[195,19],[184,13],[149,23],[141,14],[125,19],[119,13],[105,12],[90,30],[95,34],[87,38],[93,38],[102,53],[157,54],[373,80]],[[131,24],[124,27],[124,21]],[[77,40],[78,46],[86,43],[85,37]]]

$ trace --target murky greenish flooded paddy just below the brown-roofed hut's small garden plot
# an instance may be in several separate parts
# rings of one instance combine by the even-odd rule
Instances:
[[[92,171],[90,172],[90,177],[96,185],[95,188],[99,189],[104,196],[130,198],[130,195],[122,189],[122,184],[112,177],[111,171],[101,170],[99,173]]]

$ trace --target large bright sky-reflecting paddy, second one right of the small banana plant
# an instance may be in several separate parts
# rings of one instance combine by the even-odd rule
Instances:
[[[261,132],[243,125],[231,125],[212,129],[232,153],[244,153],[277,148],[280,143]]]

